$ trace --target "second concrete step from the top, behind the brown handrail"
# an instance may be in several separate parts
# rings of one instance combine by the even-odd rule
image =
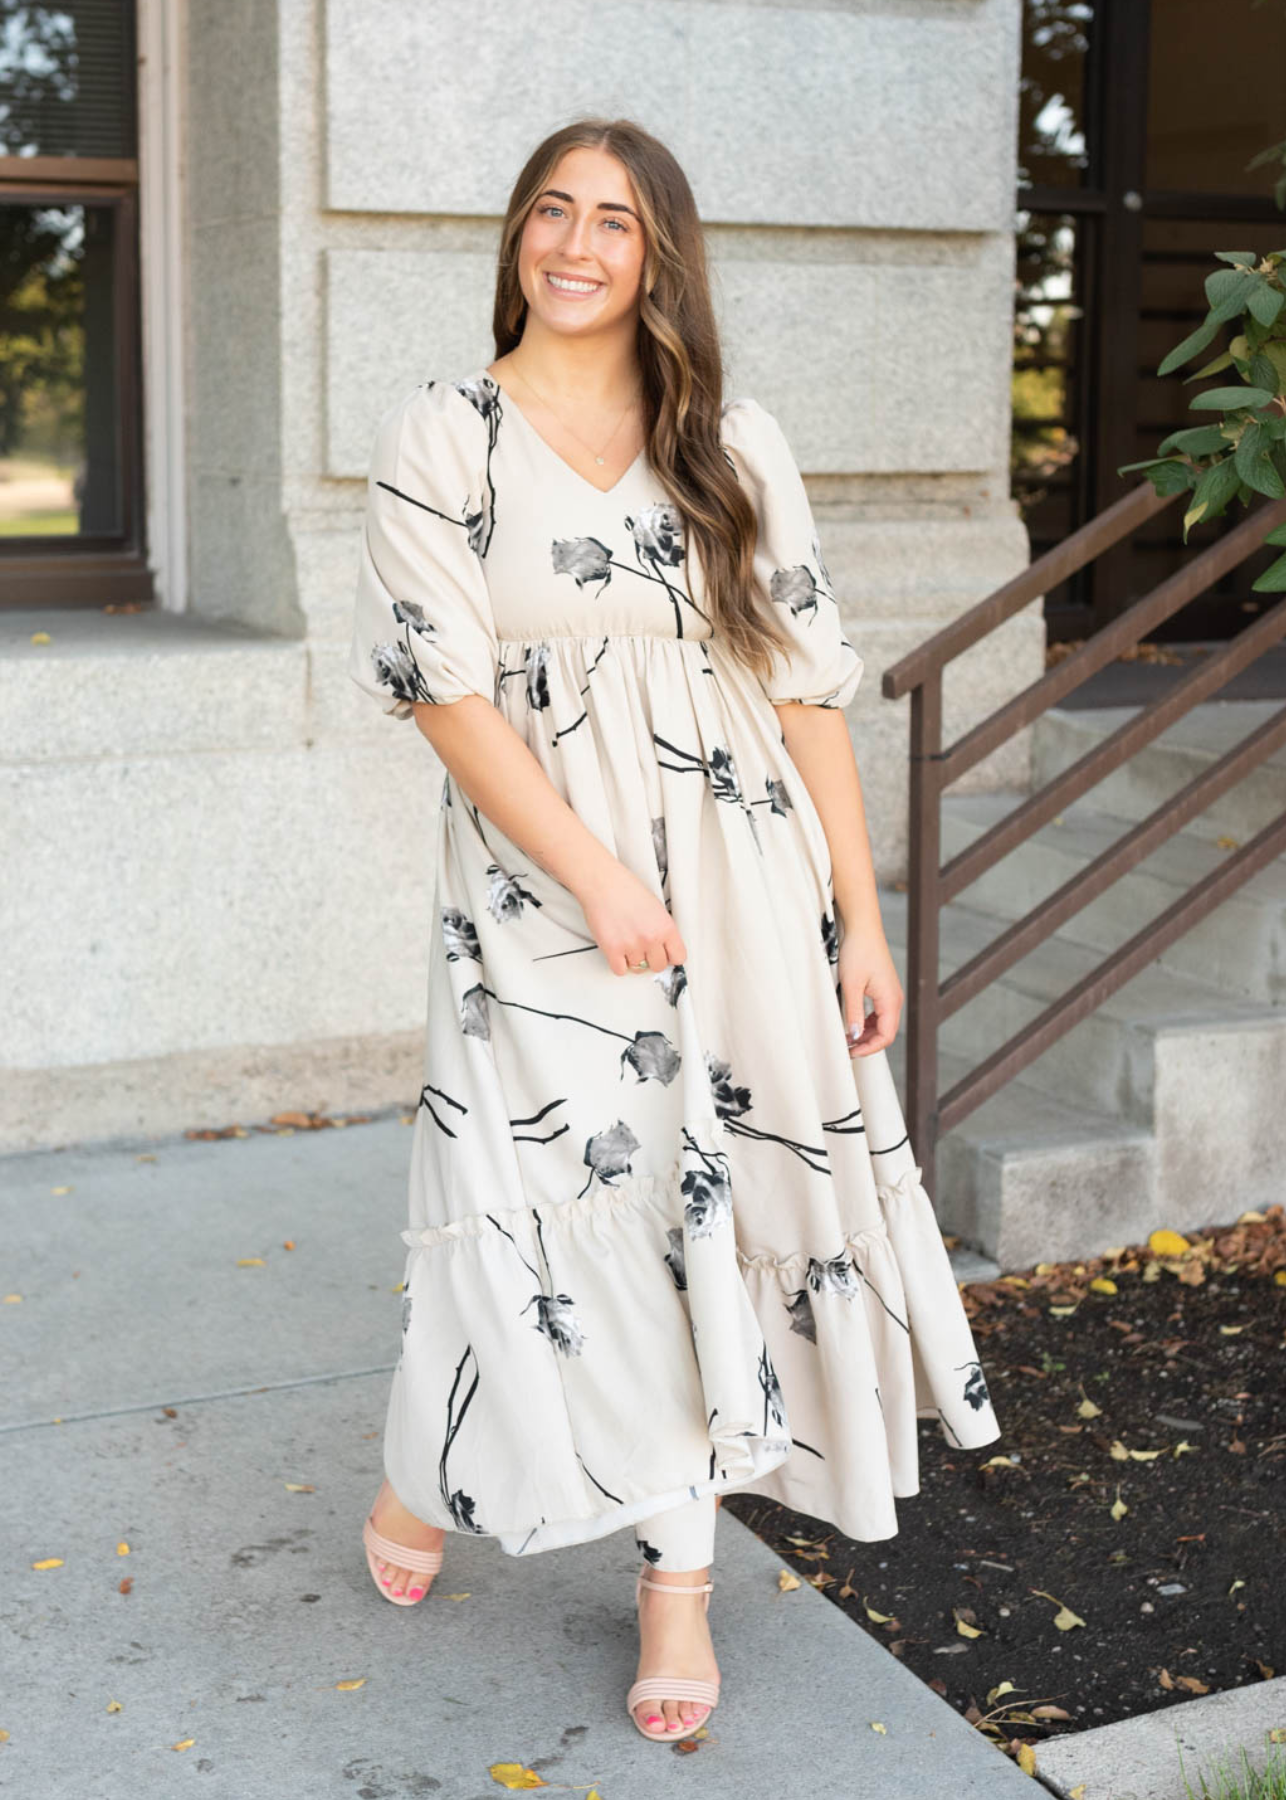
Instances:
[[[1021,794],[947,796],[942,805],[942,860],[956,857],[1021,805]],[[1001,920],[1023,918],[1079,875],[1135,824],[1099,810],[1091,799],[1066,806],[994,868],[962,891],[965,905]],[[1196,882],[1221,868],[1228,850],[1183,830],[1146,857],[1106,893],[1075,913],[1061,936],[1115,950]],[[1158,958],[1162,968],[1196,976],[1225,994],[1286,1004],[1286,857],[1254,875]]]

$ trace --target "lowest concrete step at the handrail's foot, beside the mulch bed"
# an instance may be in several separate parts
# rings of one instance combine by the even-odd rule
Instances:
[[[906,1094],[904,1033],[888,1060]],[[971,1067],[971,1058],[944,1051],[942,1087]],[[1009,1082],[938,1143],[931,1199],[942,1229],[964,1240],[951,1253],[958,1282],[1093,1256],[1156,1226],[1156,1141],[1023,1080]],[[1203,1222],[1205,1213],[1187,1220]],[[985,1260],[983,1271],[973,1273],[964,1246]]]

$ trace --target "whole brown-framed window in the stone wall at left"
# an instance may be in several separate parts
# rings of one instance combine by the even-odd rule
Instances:
[[[0,605],[149,603],[131,0],[0,0]]]

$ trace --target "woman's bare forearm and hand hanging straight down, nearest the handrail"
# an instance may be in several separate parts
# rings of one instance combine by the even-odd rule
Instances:
[[[839,932],[838,976],[848,1030],[848,1051],[870,1057],[897,1037],[902,983],[884,936],[870,853],[866,806],[848,725],[839,707],[776,704],[791,761],[818,808],[834,880]],[[865,999],[872,1012],[865,1017]],[[861,1035],[856,1035],[856,1033]]]

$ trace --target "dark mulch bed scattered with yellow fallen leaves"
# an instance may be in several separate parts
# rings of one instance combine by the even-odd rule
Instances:
[[[897,1537],[728,1510],[1023,1766],[1286,1674],[1282,1208],[960,1292],[1003,1435],[922,1420]]]

